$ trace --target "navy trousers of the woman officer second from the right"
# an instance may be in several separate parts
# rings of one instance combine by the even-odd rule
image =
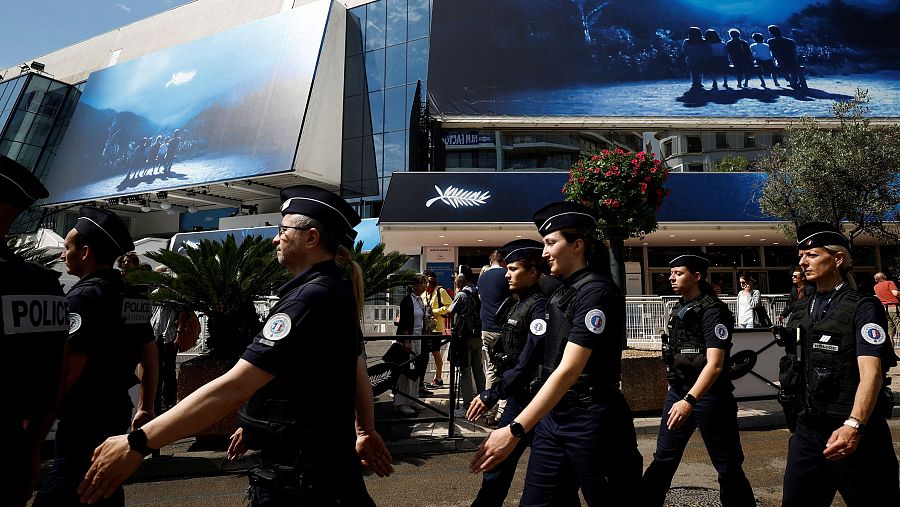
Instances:
[[[683,393],[669,389],[663,406],[659,436],[653,462],[644,473],[641,490],[645,505],[661,506],[666,492],[672,486],[672,477],[678,469],[684,448],[694,430],[700,428],[703,443],[719,474],[719,496],[724,507],[755,506],[750,481],[741,465],[744,452],[737,426],[737,403],[730,392],[707,393],[697,400],[690,417],[680,427],[670,430],[666,425],[672,405],[684,397]]]

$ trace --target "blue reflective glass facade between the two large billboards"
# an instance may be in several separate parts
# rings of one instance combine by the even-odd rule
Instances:
[[[341,195],[377,216],[391,174],[409,166],[417,82],[428,78],[430,0],[377,0],[348,11]]]

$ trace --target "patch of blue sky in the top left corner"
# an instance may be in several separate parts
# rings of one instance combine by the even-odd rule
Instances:
[[[30,62],[189,1],[0,0],[0,69]]]

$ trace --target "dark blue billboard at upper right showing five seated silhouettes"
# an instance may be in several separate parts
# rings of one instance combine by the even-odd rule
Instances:
[[[898,0],[434,0],[445,115],[900,117]]]

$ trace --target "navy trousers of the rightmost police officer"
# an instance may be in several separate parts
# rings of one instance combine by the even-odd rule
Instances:
[[[784,507],[831,505],[834,494],[849,507],[900,505],[897,455],[884,418],[872,418],[856,452],[840,461],[822,455],[843,419],[801,415],[788,444],[784,471]]]

